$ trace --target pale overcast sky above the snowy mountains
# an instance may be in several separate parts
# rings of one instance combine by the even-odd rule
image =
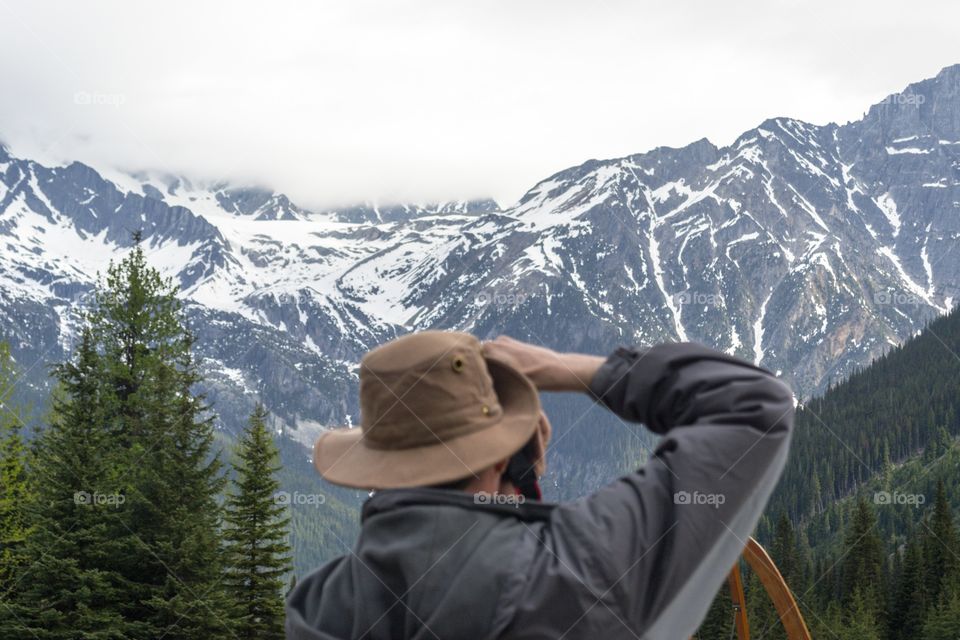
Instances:
[[[491,196],[960,62],[960,3],[0,0],[0,140],[308,207]]]

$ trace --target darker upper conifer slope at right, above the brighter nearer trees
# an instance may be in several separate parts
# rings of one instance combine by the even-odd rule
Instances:
[[[790,459],[768,513],[794,522],[918,455],[933,461],[960,435],[960,307],[798,408]],[[811,544],[836,523],[808,530]],[[769,539],[771,531],[761,530]]]

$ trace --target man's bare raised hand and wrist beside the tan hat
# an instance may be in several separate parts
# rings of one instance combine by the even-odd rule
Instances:
[[[599,356],[558,353],[508,336],[484,342],[483,350],[512,363],[541,391],[588,391],[604,362]]]

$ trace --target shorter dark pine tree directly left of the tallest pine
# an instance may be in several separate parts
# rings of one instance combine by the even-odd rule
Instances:
[[[140,631],[120,612],[127,593],[119,565],[139,543],[121,524],[124,474],[104,429],[101,373],[87,330],[75,361],[56,370],[52,419],[34,445],[30,568],[7,637],[119,640]]]

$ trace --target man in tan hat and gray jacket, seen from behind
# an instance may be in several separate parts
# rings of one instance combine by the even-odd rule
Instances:
[[[663,438],[590,496],[521,503],[529,474],[511,461],[542,470],[549,437],[538,390],[589,393]],[[314,463],[378,491],[355,550],[290,594],[289,638],[680,640],[780,476],[793,400],[770,373],[695,344],[604,359],[424,332],[364,357],[360,413],[361,427],[319,439]]]

